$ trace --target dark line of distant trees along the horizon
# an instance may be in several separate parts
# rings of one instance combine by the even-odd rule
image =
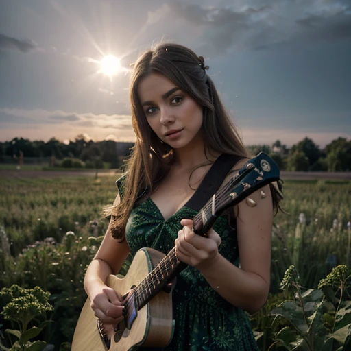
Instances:
[[[69,143],[63,143],[57,138],[51,138],[47,142],[14,138],[0,143],[0,162],[16,162],[21,156],[24,160],[36,158],[37,162],[43,158],[82,162],[99,160],[107,162],[111,168],[119,168],[130,154],[133,145],[134,143],[87,140],[83,134],[76,136]],[[281,170],[351,171],[351,139],[339,137],[323,149],[308,137],[290,148],[277,140],[271,145],[249,145],[247,149],[252,156],[261,151],[266,152]]]

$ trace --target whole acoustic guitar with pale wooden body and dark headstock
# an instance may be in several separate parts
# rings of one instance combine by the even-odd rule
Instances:
[[[267,154],[261,152],[249,160],[193,218],[194,232],[206,237],[206,232],[224,210],[265,184],[272,182],[280,194],[276,183],[279,175],[278,166]],[[106,282],[121,296],[123,321],[116,328],[110,326],[106,330],[87,299],[75,328],[71,350],[128,351],[137,346],[167,346],[173,335],[169,282],[185,268],[186,264],[177,258],[175,247],[167,255],[150,248],[139,250],[125,277],[110,275]]]

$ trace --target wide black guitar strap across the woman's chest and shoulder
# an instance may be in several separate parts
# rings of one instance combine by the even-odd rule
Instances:
[[[193,208],[197,212],[201,210],[210,197],[219,189],[230,169],[239,160],[241,160],[241,156],[221,154],[206,173],[195,194],[184,206]]]

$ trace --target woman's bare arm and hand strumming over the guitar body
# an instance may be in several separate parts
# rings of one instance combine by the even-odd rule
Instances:
[[[114,205],[117,204],[119,195],[114,201]],[[121,243],[113,239],[109,225],[97,254],[86,270],[84,289],[90,299],[90,306],[95,316],[106,324],[117,324],[122,319],[120,296],[106,285],[106,279],[110,274],[118,274],[129,252],[126,240]]]

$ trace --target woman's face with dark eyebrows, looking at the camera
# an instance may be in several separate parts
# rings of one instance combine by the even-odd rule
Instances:
[[[137,91],[147,122],[161,141],[173,149],[202,143],[202,106],[171,80],[150,73]]]

